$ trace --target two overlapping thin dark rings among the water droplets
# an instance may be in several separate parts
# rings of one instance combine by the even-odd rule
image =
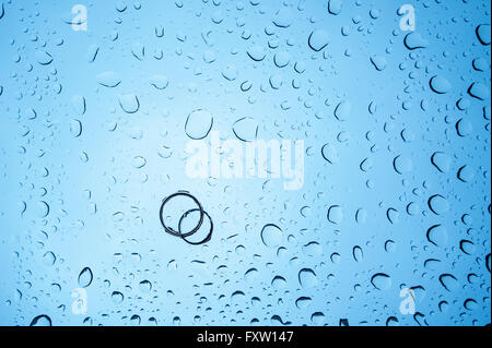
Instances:
[[[172,227],[167,226],[166,223],[165,223],[165,220],[164,220],[164,207],[166,206],[166,204],[167,204],[171,200],[173,200],[173,199],[175,199],[175,197],[178,197],[178,196],[186,196],[186,197],[191,199],[191,200],[195,202],[195,204],[197,205],[197,207],[191,208],[191,209],[187,211],[185,214],[181,215],[181,217],[179,218],[178,228],[177,228],[177,230],[175,230],[175,229],[173,229]],[[189,214],[195,213],[195,212],[200,212],[200,218],[199,218],[199,220],[198,220],[198,223],[197,223],[197,226],[195,226],[195,228],[194,228],[192,230],[190,230],[189,232],[181,232],[181,225],[183,225],[184,219],[185,219]],[[207,237],[206,237],[203,240],[199,241],[199,242],[194,242],[194,241],[188,240],[188,239],[187,239],[188,237],[191,237],[192,235],[195,235],[196,232],[198,232],[198,231],[200,230],[201,226],[203,225],[203,219],[204,219],[206,217],[207,217],[207,218],[209,219],[209,221],[210,221],[210,230],[209,230]],[[188,191],[178,191],[178,192],[173,193],[172,195],[165,197],[165,199],[162,201],[161,211],[160,211],[160,218],[161,218],[161,225],[162,225],[162,227],[164,227],[164,230],[165,230],[167,233],[169,233],[171,236],[174,236],[174,237],[179,237],[179,238],[181,238],[181,239],[183,239],[185,242],[187,242],[188,244],[191,244],[191,245],[201,245],[201,244],[204,244],[204,243],[209,242],[209,241],[212,239],[212,232],[213,232],[213,223],[212,223],[212,218],[210,217],[210,215],[209,215],[206,211],[203,211],[203,206],[202,206],[201,203],[197,200],[197,197],[194,196],[194,195],[192,195],[191,193],[189,193]]]

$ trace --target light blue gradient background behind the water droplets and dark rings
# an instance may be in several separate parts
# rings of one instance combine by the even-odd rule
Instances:
[[[1,325],[30,325],[37,315],[52,325],[490,323],[490,98],[467,93],[472,83],[490,91],[490,45],[476,33],[490,24],[490,1],[350,0],[338,15],[317,0],[119,3],[83,2],[89,29],[75,32],[66,23],[75,2],[0,1]],[[403,45],[408,33],[397,11],[405,3],[415,8],[425,48]],[[289,27],[273,23],[282,8],[290,9]],[[308,46],[317,28],[329,36],[319,52]],[[247,55],[254,46],[265,48],[260,62]],[[141,60],[134,47],[144,47]],[[39,64],[39,50],[52,62]],[[161,60],[153,57],[160,51]],[[280,51],[290,57],[284,68],[273,61]],[[215,60],[207,63],[211,52]],[[386,59],[383,71],[373,56]],[[473,69],[476,59],[484,71]],[[304,62],[303,73],[296,62]],[[236,70],[234,81],[223,76],[227,67]],[[97,83],[107,71],[118,74],[118,86]],[[157,74],[168,79],[163,91],[150,83]],[[434,75],[449,82],[447,93],[430,88]],[[270,85],[272,76],[280,88]],[[245,81],[253,87],[242,92]],[[128,93],[140,101],[136,113],[119,106]],[[74,96],[85,99],[83,115]],[[460,98],[469,101],[465,110]],[[352,106],[344,121],[333,116],[341,100]],[[185,122],[196,109],[213,115],[223,139],[235,139],[234,122],[251,117],[258,139],[304,140],[303,189],[284,191],[276,179],[187,178]],[[460,119],[471,125],[466,136],[457,133]],[[80,136],[73,120],[82,124]],[[336,164],[321,156],[327,143],[338,151]],[[162,146],[172,149],[169,158],[159,155]],[[433,166],[436,152],[448,155],[447,172]],[[134,168],[137,156],[145,158],[143,168]],[[398,173],[397,156],[412,170]],[[366,158],[373,166],[363,171]],[[475,173],[468,182],[457,177],[462,166]],[[163,197],[178,190],[194,193],[213,218],[203,247],[160,225]],[[429,207],[435,194],[449,205],[441,215]],[[47,216],[40,202],[49,205]],[[339,224],[327,218],[333,205],[343,212]],[[393,223],[390,208],[399,215]],[[360,209],[365,221],[355,218]],[[262,243],[267,224],[282,229],[276,248]],[[438,224],[447,243],[435,245],[426,233]],[[464,252],[461,240],[472,248]],[[385,250],[388,241],[394,251]],[[87,314],[75,315],[71,292],[84,267],[94,278]],[[304,268],[315,283],[300,281]],[[384,288],[371,281],[380,273],[390,279]],[[447,289],[440,281],[445,274],[456,279]],[[284,281],[272,281],[277,276]],[[409,287],[417,289],[415,315],[399,311],[400,289]],[[302,297],[311,298],[305,308],[296,305]]]

